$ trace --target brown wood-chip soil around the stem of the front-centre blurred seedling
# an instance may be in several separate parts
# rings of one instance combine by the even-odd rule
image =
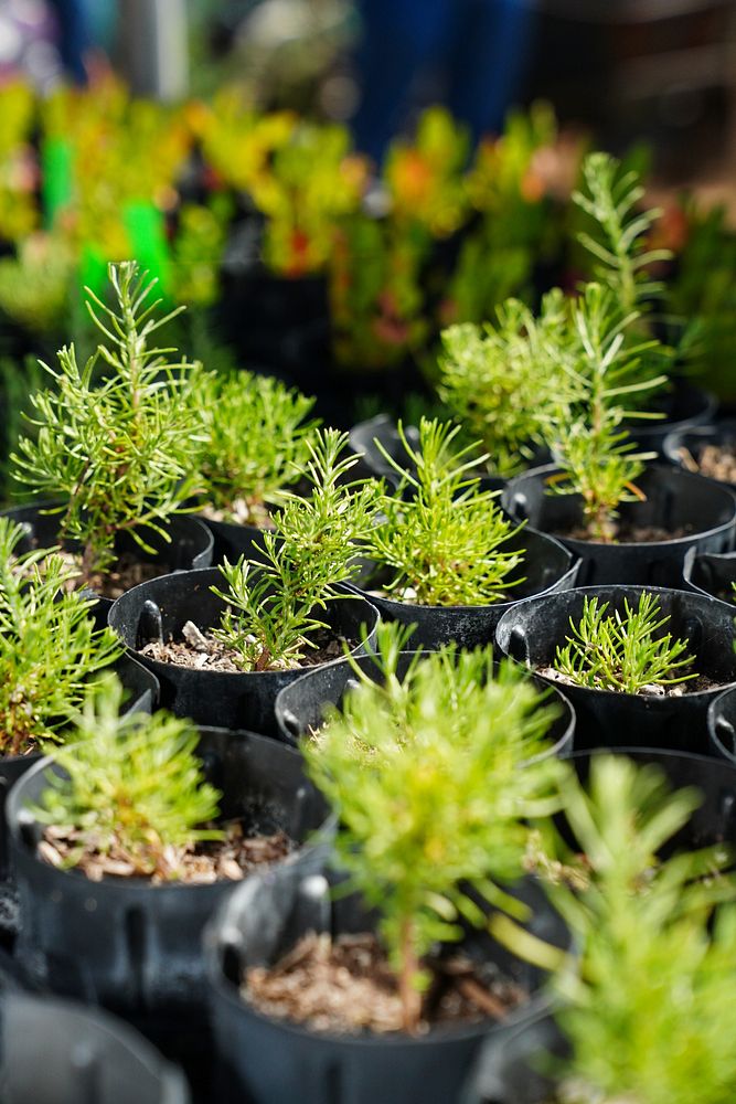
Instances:
[[[425,966],[431,983],[424,997],[420,1032],[439,1025],[502,1020],[529,996],[492,964],[456,955]],[[248,969],[242,994],[260,1012],[316,1031],[402,1030],[396,977],[371,934],[332,941],[312,932],[276,966]]]

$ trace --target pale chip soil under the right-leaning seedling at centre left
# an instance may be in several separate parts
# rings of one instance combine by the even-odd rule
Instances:
[[[243,675],[244,668],[238,662],[238,652],[216,640],[211,633],[202,631],[193,622],[186,622],[182,629],[183,639],[151,640],[140,649],[142,656],[156,659],[161,664],[174,664],[177,667],[192,667],[202,671],[225,671]],[[312,637],[317,645],[310,648],[300,662],[284,662],[274,665],[267,670],[295,670],[298,667],[313,667],[316,664],[327,664],[332,659],[341,659],[343,637],[333,636],[327,630],[316,633]],[[350,648],[355,648],[358,641],[349,641]]]

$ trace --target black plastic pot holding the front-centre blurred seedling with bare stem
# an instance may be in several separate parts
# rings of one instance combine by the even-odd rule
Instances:
[[[238,991],[249,966],[273,965],[309,931],[359,933],[374,927],[354,895],[331,899],[335,875],[323,852],[310,853],[300,869],[254,875],[224,903],[205,935],[210,1007],[223,1085],[232,1101],[252,1104],[449,1104],[456,1101],[483,1040],[534,1025],[547,997],[537,969],[513,958],[486,933],[469,935],[462,949],[493,960],[518,980],[530,1000],[501,1023],[433,1029],[409,1037],[339,1036],[276,1020],[247,1004]],[[567,932],[532,880],[513,889],[533,910],[530,928],[561,947]],[[534,1028],[527,1040],[536,1049]]]

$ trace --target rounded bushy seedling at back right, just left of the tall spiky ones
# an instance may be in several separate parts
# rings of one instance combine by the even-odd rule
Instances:
[[[569,381],[547,355],[564,340],[567,310],[561,291],[550,293],[538,318],[508,299],[498,322],[451,326],[441,335],[439,395],[468,434],[480,439],[488,467],[516,475],[544,440],[547,422],[561,406]]]

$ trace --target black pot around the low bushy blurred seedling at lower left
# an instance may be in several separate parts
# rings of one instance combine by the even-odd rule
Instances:
[[[221,820],[242,818],[268,835],[284,830],[301,845],[324,827],[322,796],[303,774],[300,756],[249,732],[202,729],[199,745],[207,779],[217,786]],[[13,787],[8,827],[21,909],[15,955],[30,977],[143,1022],[203,1016],[204,924],[232,881],[150,885],[138,878],[93,882],[38,854],[42,830],[29,811],[57,765],[45,758]],[[291,861],[298,861],[295,852]]]

